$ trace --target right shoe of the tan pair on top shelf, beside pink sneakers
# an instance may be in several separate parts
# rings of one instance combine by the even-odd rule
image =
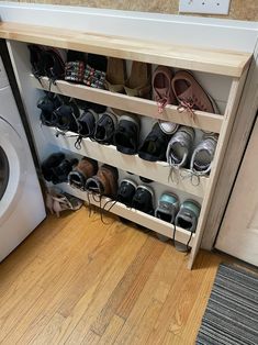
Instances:
[[[152,90],[150,65],[133,62],[131,76],[125,81],[125,93],[132,97],[150,98]]]

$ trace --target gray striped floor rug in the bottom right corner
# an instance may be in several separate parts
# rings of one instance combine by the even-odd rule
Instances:
[[[220,265],[197,344],[258,345],[258,275]]]

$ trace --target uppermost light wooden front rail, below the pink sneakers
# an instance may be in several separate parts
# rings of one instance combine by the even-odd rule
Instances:
[[[49,90],[49,80],[41,78],[42,84],[33,76],[30,76],[32,86],[37,89]],[[114,109],[121,109],[132,113],[171,121],[183,125],[220,133],[223,116],[218,114],[195,111],[192,118],[187,111],[178,112],[176,105],[167,105],[161,114],[158,114],[158,107],[155,101],[126,94],[113,93],[106,90],[99,90],[83,85],[75,85],[64,80],[57,80],[52,85],[52,92],[78,98],[86,101],[103,104]]]

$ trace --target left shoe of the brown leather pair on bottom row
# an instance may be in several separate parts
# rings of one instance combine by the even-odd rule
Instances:
[[[83,189],[88,178],[98,171],[98,163],[94,159],[82,157],[78,165],[68,175],[68,183],[72,187]]]

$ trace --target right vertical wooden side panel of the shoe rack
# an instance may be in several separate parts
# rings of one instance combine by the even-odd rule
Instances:
[[[226,152],[227,143],[231,136],[232,127],[235,120],[235,114],[238,109],[238,104],[240,101],[242,91],[246,81],[248,68],[246,68],[243,75],[239,78],[232,79],[231,91],[228,94],[227,105],[224,114],[224,120],[222,124],[222,129],[220,132],[220,137],[217,142],[217,147],[215,152],[215,156],[213,159],[213,169],[211,171],[211,176],[206,186],[202,209],[199,218],[198,229],[195,232],[194,242],[192,245],[192,251],[190,254],[188,268],[192,269],[194,259],[198,255],[203,233],[205,230],[206,220],[209,216],[209,212],[211,211],[213,193],[216,187],[216,182],[220,176],[220,170],[223,165],[224,155]]]

